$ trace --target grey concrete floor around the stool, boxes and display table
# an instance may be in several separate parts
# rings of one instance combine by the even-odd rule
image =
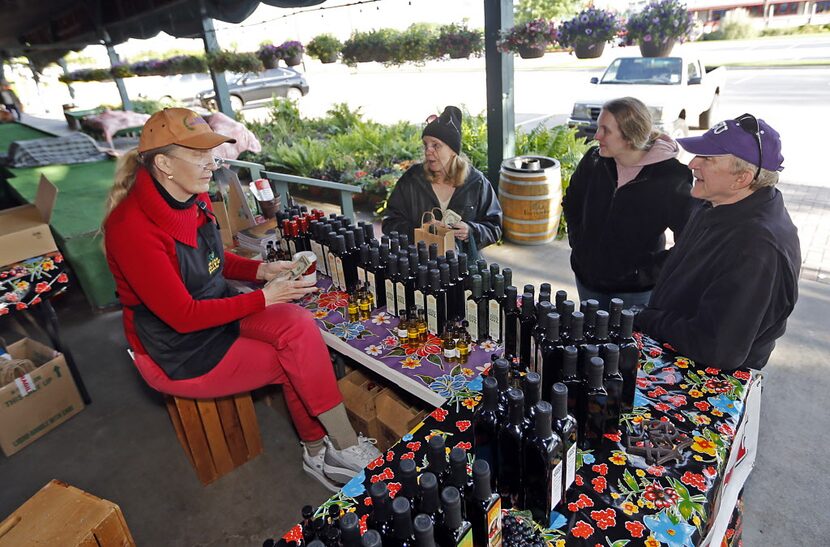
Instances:
[[[562,242],[488,248],[489,261],[509,265],[514,283],[550,282],[575,294]],[[170,425],[161,396],[145,387],[125,352],[121,313],[93,313],[77,287],[55,302],[64,338],[93,404],[20,453],[0,456],[0,519],[57,478],[118,503],[139,545],[256,546],[299,519],[303,504],[327,491],[301,470],[300,447],[283,403],[255,397],[265,452],[204,487]],[[788,333],[766,367],[761,445],[746,488],[744,544],[822,545],[830,529],[823,506],[821,401],[830,392],[830,285],[801,281]],[[7,339],[31,330],[5,318]],[[43,338],[42,335],[40,335]],[[261,395],[261,394],[260,394]]]

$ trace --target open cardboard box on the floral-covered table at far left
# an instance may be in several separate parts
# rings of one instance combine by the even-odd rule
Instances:
[[[41,175],[34,204],[0,211],[0,265],[57,250],[49,228],[57,198],[57,187]]]

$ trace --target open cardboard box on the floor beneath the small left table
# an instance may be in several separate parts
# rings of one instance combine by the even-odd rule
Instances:
[[[14,359],[41,364],[0,388],[0,448],[11,456],[84,408],[63,354],[23,338],[6,348]]]

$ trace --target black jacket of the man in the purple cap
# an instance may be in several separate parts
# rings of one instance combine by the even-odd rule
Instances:
[[[798,298],[801,250],[781,192],[700,204],[636,325],[706,365],[763,367]]]

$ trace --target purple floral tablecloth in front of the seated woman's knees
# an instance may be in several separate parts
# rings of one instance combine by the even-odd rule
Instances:
[[[475,389],[468,387],[491,362],[501,355],[502,347],[485,341],[474,344],[466,363],[448,361],[443,357],[441,339],[429,334],[427,340],[417,346],[402,347],[394,328],[399,319],[378,308],[371,318],[364,321],[348,320],[348,295],[332,288],[331,280],[320,277],[320,292],[309,295],[300,305],[310,310],[320,328],[353,348],[377,359],[388,368],[423,383],[438,395],[473,408],[470,397]],[[476,385],[480,389],[481,380]]]

